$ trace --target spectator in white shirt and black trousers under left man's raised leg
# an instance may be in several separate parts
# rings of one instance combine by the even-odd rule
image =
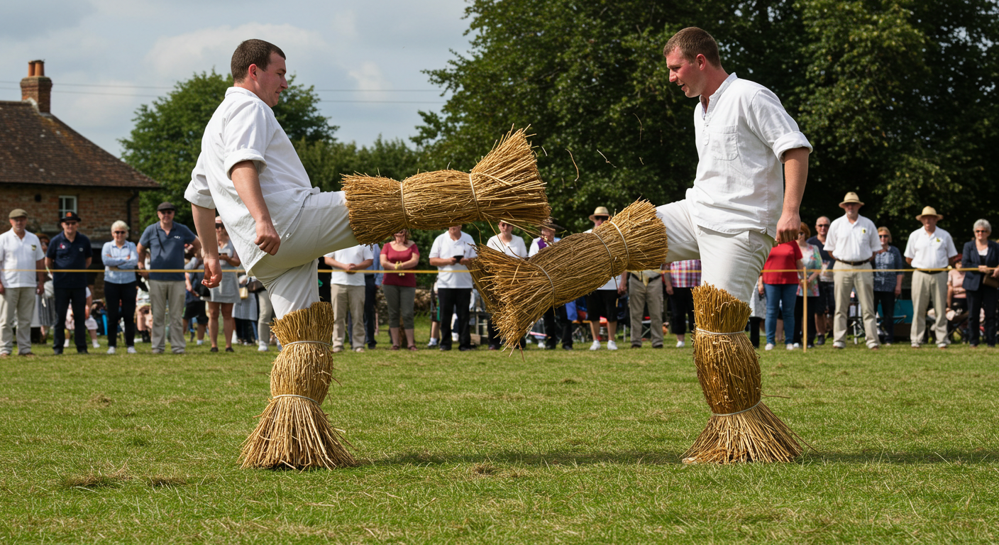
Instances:
[[[440,271],[437,285],[438,306],[441,309],[441,350],[451,350],[451,320],[454,314],[458,314],[458,349],[462,352],[472,350],[469,303],[474,284],[468,266],[479,255],[475,244],[476,241],[468,233],[462,232],[461,225],[452,225],[431,246],[431,265]]]

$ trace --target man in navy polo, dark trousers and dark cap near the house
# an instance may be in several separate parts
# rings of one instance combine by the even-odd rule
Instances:
[[[87,326],[86,318],[90,309],[87,308],[87,273],[84,272],[59,272],[60,270],[88,269],[90,268],[91,247],[90,239],[85,235],[77,233],[80,224],[80,216],[76,212],[67,212],[60,218],[63,232],[52,237],[49,243],[49,251],[45,254],[45,266],[52,271],[52,286],[55,288],[56,299],[56,325],[55,341],[52,350],[56,355],[62,354],[63,343],[66,340],[66,328],[63,321],[66,320],[66,310],[70,304],[73,305],[73,340],[76,342],[76,352],[78,354],[87,353]]]

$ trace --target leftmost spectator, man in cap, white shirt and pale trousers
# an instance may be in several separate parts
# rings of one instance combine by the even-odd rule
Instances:
[[[17,322],[17,353],[31,356],[31,316],[35,295],[45,285],[45,253],[34,233],[27,231],[28,213],[11,210],[10,231],[0,235],[0,295],[3,296],[3,322],[0,323],[0,358],[14,350],[14,322]],[[20,269],[20,270],[18,270]]]

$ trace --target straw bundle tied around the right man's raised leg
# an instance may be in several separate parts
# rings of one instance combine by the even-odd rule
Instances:
[[[666,260],[666,229],[655,207],[639,200],[590,233],[569,235],[530,259],[486,246],[470,267],[507,346],[544,311],[602,286],[625,270],[658,269]]]

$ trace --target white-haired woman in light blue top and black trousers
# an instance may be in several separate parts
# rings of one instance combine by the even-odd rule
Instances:
[[[108,311],[108,354],[118,346],[118,320],[125,317],[125,346],[135,354],[135,292],[134,269],[139,264],[139,252],[128,237],[128,224],[118,220],[111,224],[113,240],[104,243],[101,260],[104,263],[104,301]],[[112,270],[115,267],[117,270]],[[132,269],[132,270],[130,270]]]

